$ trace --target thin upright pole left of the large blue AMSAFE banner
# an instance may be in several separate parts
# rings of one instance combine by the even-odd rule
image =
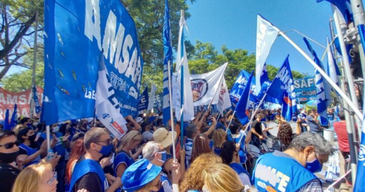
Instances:
[[[33,87],[35,86],[35,65],[36,65],[36,54],[37,54],[37,40],[38,40],[38,11],[35,12],[35,27],[34,27],[34,47],[33,47],[33,66],[32,66],[32,85],[31,85],[31,100],[30,100],[30,118],[34,117],[34,92]],[[36,89],[35,89],[36,90]]]

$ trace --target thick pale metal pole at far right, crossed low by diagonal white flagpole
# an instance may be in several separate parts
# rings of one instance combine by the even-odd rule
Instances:
[[[352,77],[352,74],[351,74],[349,59],[348,59],[348,56],[347,56],[346,45],[345,45],[344,37],[343,37],[343,34],[342,34],[342,30],[341,30],[339,15],[338,15],[338,12],[337,12],[336,8],[334,8],[334,5],[332,5],[332,6],[333,6],[333,10],[334,10],[334,19],[335,19],[335,26],[336,26],[336,30],[337,30],[337,35],[339,37],[339,42],[340,42],[340,46],[341,46],[341,52],[342,52],[342,58],[343,58],[342,61],[343,61],[343,67],[344,67],[343,69],[344,69],[344,72],[345,72],[344,76],[347,79],[347,83],[348,83],[347,87],[348,87],[349,92],[350,92],[352,104],[356,109],[359,109],[358,101],[357,101],[357,97],[356,97],[356,92],[355,92],[355,86],[353,86],[354,82],[353,82],[353,77]],[[358,118],[355,118],[356,124],[358,126],[359,135],[361,134],[361,124],[362,124],[362,122],[361,122],[362,119],[361,118],[362,118],[361,116],[358,117]]]

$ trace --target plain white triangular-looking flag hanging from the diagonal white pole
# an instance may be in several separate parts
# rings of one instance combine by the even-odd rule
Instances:
[[[256,86],[255,94],[259,94],[261,90],[260,77],[264,64],[269,56],[271,45],[274,43],[279,29],[273,26],[269,21],[258,15],[257,36],[256,36]]]

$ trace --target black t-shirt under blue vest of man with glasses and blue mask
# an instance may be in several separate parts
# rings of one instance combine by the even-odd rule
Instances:
[[[102,183],[97,173],[87,173],[76,181],[74,191],[86,189],[88,192],[100,192],[103,191]]]

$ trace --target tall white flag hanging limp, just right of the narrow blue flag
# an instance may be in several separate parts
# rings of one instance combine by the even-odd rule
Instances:
[[[183,11],[181,11],[179,24],[180,24],[180,30],[179,30],[179,39],[178,39],[177,57],[176,57],[176,74],[177,74],[176,82],[178,89],[176,98],[177,105],[175,106],[176,107],[175,116],[179,120],[181,118],[181,113],[184,112],[184,121],[189,121],[194,118],[194,106],[192,105],[193,93],[190,84],[188,57],[186,55],[185,43],[184,43],[184,26],[186,25],[186,21],[184,18]],[[184,88],[181,89],[181,87]],[[181,99],[181,91],[183,91],[184,93],[182,94],[182,96],[184,97],[182,99]],[[183,109],[182,111],[181,107]]]

